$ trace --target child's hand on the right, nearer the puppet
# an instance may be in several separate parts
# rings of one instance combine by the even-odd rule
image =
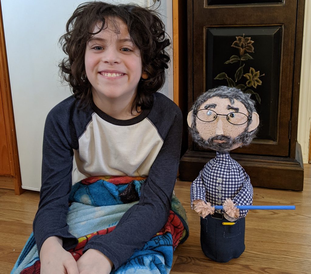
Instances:
[[[77,261],[79,274],[109,274],[113,267],[110,259],[97,249],[88,249]]]

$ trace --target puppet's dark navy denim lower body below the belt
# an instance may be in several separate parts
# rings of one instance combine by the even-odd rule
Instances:
[[[211,215],[201,218],[201,247],[208,258],[226,263],[244,252],[245,218],[234,225],[223,225],[222,222],[228,221]]]

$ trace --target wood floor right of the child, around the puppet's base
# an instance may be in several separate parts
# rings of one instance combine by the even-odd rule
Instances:
[[[304,191],[254,187],[253,204],[296,205],[295,210],[251,210],[246,217],[244,253],[226,264],[207,258],[200,246],[200,218],[190,209],[191,182],[178,181],[175,193],[189,222],[188,240],[177,247],[172,274],[311,271],[311,165],[304,165]]]

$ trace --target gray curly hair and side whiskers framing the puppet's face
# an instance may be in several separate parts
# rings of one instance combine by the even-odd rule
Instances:
[[[255,101],[250,98],[250,94],[243,93],[238,88],[230,88],[230,87],[226,87],[226,86],[220,86],[218,88],[212,88],[212,89],[209,89],[207,92],[204,92],[202,95],[200,95],[197,98],[196,104],[194,104],[190,110],[193,110],[195,105],[196,105],[196,110],[198,110],[198,108],[201,106],[201,104],[211,97],[228,98],[230,100],[231,104],[234,104],[234,100],[238,100],[244,104],[249,115],[252,112],[256,112]],[[231,140],[230,145],[228,147],[225,147],[223,149],[223,151],[229,151],[230,150],[229,147],[233,143],[242,143],[243,145],[250,144],[250,142],[256,136],[256,132],[258,129],[258,128],[255,128],[254,130],[248,132],[248,127],[249,127],[250,123],[251,123],[251,120],[249,120],[247,122],[247,126],[246,126],[244,132],[241,133],[238,137],[234,138],[234,140]],[[193,141],[196,142],[199,146],[202,146],[204,148],[215,149],[215,147],[213,147],[213,144],[211,142],[209,142],[209,140],[204,140],[200,136],[200,134],[197,132],[196,115],[195,114],[193,114],[193,122],[192,122],[191,128],[189,128],[189,132],[193,138]]]

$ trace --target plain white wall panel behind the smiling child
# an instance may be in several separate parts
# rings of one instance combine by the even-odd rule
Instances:
[[[39,190],[43,128],[46,115],[58,102],[70,96],[58,77],[63,52],[58,39],[78,4],[86,0],[2,0],[17,146],[22,188]],[[153,0],[110,1],[153,4]],[[162,0],[161,9],[172,37],[172,0]],[[173,67],[171,65],[171,67]],[[173,99],[173,79],[163,93]]]

